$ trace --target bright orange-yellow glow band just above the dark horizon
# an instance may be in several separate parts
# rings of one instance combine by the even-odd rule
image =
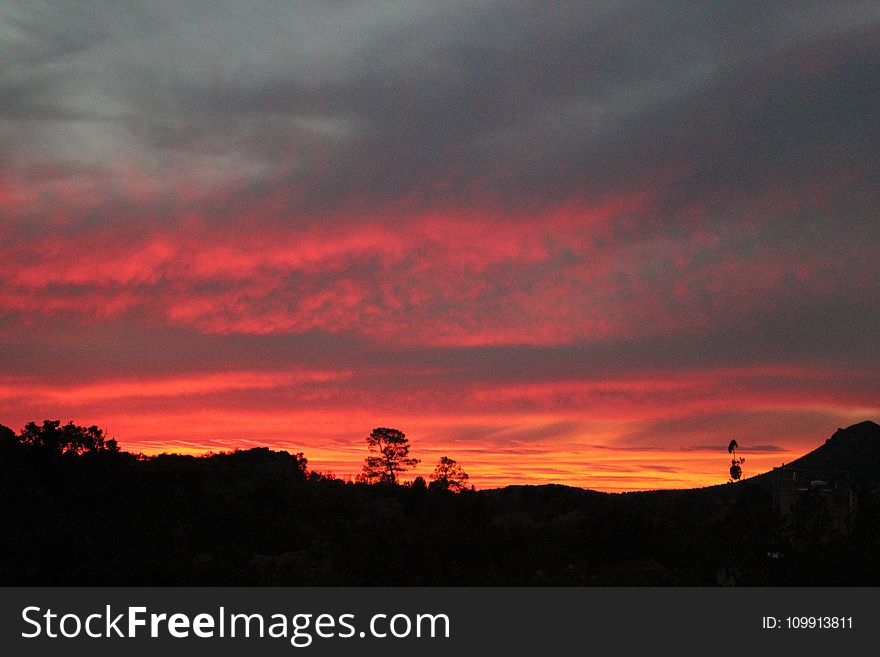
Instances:
[[[369,431],[392,426],[407,434],[412,454],[421,459],[410,477],[427,477],[445,455],[458,460],[478,488],[559,483],[623,492],[724,483],[730,437],[737,437],[747,459],[746,476],[751,476],[821,444],[836,428],[820,428],[823,420],[848,424],[880,415],[876,406],[835,406],[833,399],[823,403],[821,396],[815,404],[786,407],[787,395],[761,400],[750,393],[726,401],[749,401],[751,414],[728,418],[723,426],[712,421],[710,425],[718,425],[714,428],[700,422],[726,408],[713,398],[717,385],[708,382],[768,376],[789,380],[802,374],[761,367],[693,372],[675,380],[569,381],[517,390],[485,386],[459,398],[455,413],[444,411],[442,398],[433,405],[419,399],[418,410],[408,413],[395,410],[409,405],[403,398],[396,403],[371,401],[354,392],[358,373],[353,370],[226,372],[63,387],[7,378],[0,380],[0,405],[8,408],[27,400],[32,411],[29,417],[4,415],[0,420],[15,429],[44,417],[94,423],[123,449],[149,455],[251,447],[302,451],[310,469],[345,479],[358,473]],[[572,394],[611,398],[574,413],[578,403],[572,403]],[[623,403],[621,394],[634,398]],[[269,408],[262,406],[267,395],[274,399]],[[692,418],[691,429],[664,428],[669,395],[678,399],[677,413]],[[230,403],[222,403],[224,396],[230,396]],[[362,405],[339,408],[349,396]],[[285,409],[283,399],[299,401]],[[522,410],[527,405],[544,410]],[[802,429],[789,426],[799,414],[816,414],[810,420],[816,428],[810,430],[810,423]]]

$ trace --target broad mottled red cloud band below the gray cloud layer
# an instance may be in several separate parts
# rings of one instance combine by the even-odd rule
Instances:
[[[475,213],[220,226],[189,216],[7,238],[0,311],[134,315],[204,333],[353,332],[411,344],[565,344],[706,332],[841,276],[869,250],[731,249],[706,228],[638,234],[644,197],[527,219]],[[725,229],[726,230],[726,229]],[[621,231],[623,231],[621,233]],[[842,248],[842,247],[841,247]]]

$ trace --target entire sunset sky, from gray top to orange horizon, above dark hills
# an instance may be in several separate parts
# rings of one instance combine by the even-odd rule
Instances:
[[[478,488],[880,419],[880,4],[0,0],[0,424]]]

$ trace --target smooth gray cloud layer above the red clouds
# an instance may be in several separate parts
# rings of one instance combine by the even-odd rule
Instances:
[[[867,156],[878,124],[871,3],[53,9],[5,21],[23,35],[0,79],[10,118],[124,119],[88,132],[92,150],[145,166],[187,150],[289,166],[275,193],[312,210],[365,196],[522,208],[675,167],[668,203],[748,196],[768,175],[821,177],[830,150],[837,165]]]

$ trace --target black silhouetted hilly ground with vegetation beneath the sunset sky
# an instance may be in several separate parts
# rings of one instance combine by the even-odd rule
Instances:
[[[870,422],[784,472],[631,494],[350,483],[301,454],[144,458],[93,429],[0,427],[0,584],[880,584]]]

